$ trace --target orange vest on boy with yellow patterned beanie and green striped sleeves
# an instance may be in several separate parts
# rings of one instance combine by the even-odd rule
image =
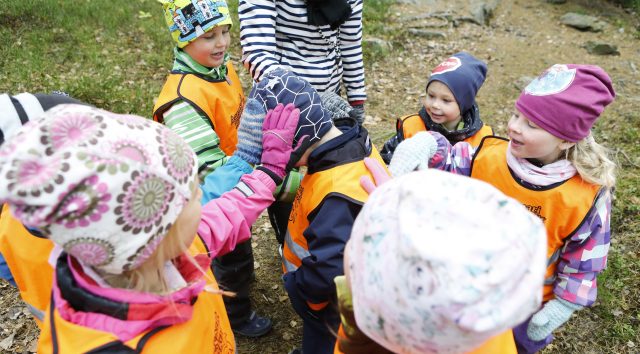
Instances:
[[[162,123],[163,114],[177,101],[186,101],[209,117],[227,156],[238,144],[238,125],[245,98],[233,64],[227,64],[227,80],[209,81],[195,74],[171,73],[153,107],[153,120]]]

